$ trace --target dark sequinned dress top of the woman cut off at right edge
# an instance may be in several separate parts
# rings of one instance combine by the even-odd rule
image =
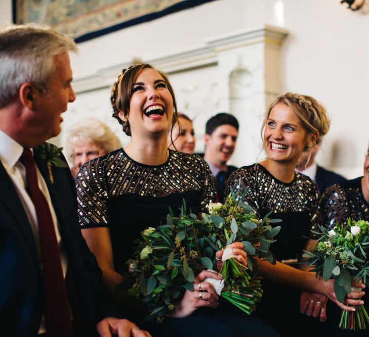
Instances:
[[[328,187],[320,202],[321,223],[334,227],[347,219],[369,221],[369,204],[361,190],[361,177]]]

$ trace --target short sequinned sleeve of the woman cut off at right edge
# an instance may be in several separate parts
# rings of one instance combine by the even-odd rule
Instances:
[[[333,228],[336,222],[346,223],[349,217],[345,190],[335,184],[328,187],[320,201],[320,223]]]

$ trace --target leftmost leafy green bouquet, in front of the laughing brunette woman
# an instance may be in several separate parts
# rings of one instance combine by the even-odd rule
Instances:
[[[213,268],[213,250],[203,238],[207,232],[208,224],[187,214],[184,202],[179,217],[170,209],[166,224],[147,228],[136,240],[134,258],[129,261],[135,282],[129,294],[149,307],[145,320],[156,317],[161,322],[186,289],[193,291],[195,275]]]

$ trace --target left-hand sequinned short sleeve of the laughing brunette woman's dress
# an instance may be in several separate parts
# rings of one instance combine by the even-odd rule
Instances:
[[[84,164],[75,178],[81,228],[108,226],[108,191],[100,158]]]

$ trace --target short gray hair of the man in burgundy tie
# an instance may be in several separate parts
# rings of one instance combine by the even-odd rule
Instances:
[[[43,94],[54,72],[56,55],[77,52],[75,42],[49,27],[12,25],[0,30],[0,108],[30,82]]]

